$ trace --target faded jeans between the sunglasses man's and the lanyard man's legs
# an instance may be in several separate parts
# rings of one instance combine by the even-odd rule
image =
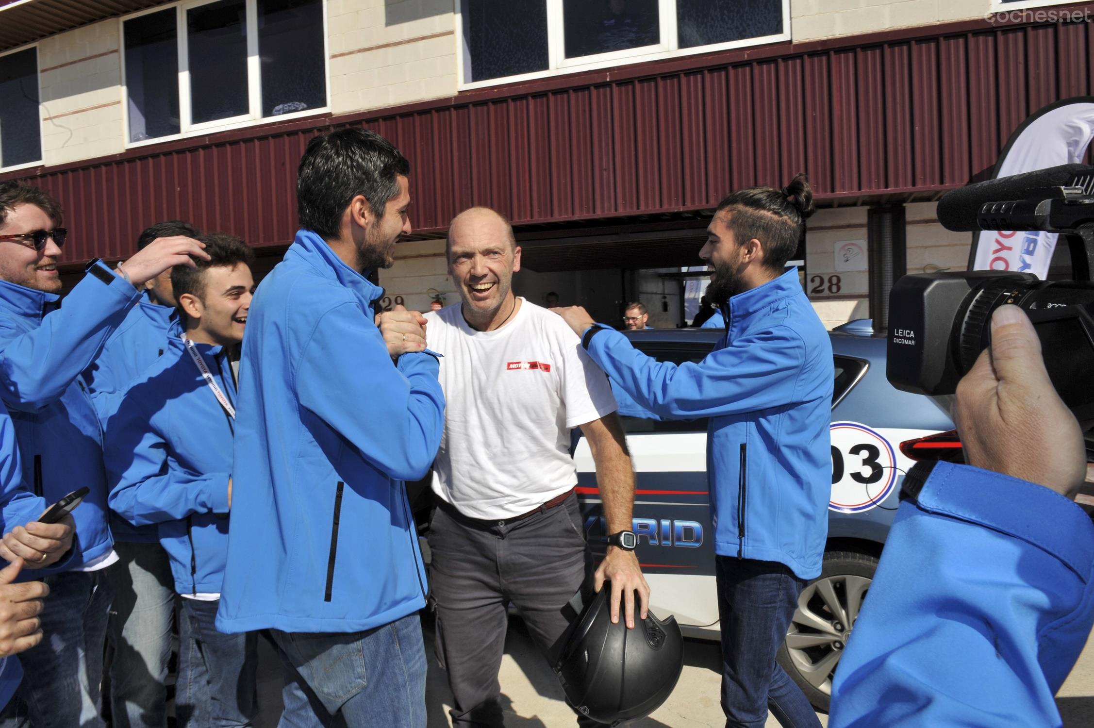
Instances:
[[[158,543],[114,544],[120,562],[109,571],[114,590],[109,639],[114,728],[166,728],[167,661],[175,585],[167,552]]]

